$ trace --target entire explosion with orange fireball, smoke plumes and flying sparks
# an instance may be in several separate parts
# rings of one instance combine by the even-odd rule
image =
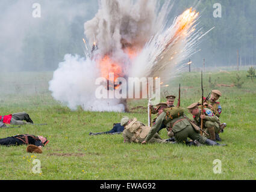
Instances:
[[[160,7],[156,0],[102,0],[98,13],[84,24],[85,58],[65,56],[49,83],[52,96],[71,109],[122,112],[123,100],[95,98],[98,77],[107,79],[108,91],[110,73],[114,82],[118,77],[161,77],[161,85],[168,83],[201,37],[195,28],[198,12],[189,8],[168,26],[171,8],[170,1]]]

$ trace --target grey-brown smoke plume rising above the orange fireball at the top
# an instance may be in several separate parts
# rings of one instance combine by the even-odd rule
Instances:
[[[157,1],[101,1],[96,16],[84,24],[84,34],[95,41],[101,55],[122,52],[124,43],[143,47],[161,26],[157,18]]]

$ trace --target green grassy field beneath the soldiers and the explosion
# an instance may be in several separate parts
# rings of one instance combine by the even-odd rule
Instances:
[[[211,76],[213,82],[231,84],[236,72],[204,74],[205,95],[215,88],[223,94],[221,120],[228,127],[220,137],[228,146],[200,148],[126,144],[122,135],[89,136],[91,131],[110,130],[123,115],[136,116],[146,124],[146,111],[71,111],[51,97],[52,73],[5,74],[0,77],[1,115],[25,111],[34,122],[48,125],[1,129],[0,138],[34,134],[50,142],[38,155],[27,154],[25,146],[0,146],[0,179],[256,179],[256,80],[246,79],[246,71],[239,74],[245,82],[240,89],[208,83]],[[166,91],[177,95],[181,83],[181,106],[187,107],[201,97],[200,80],[200,73],[184,73]],[[146,100],[128,101],[130,108],[146,104]],[[161,137],[167,139],[166,133],[162,130]],[[32,171],[34,159],[41,162],[41,174]],[[222,161],[221,174],[213,173],[215,159]]]

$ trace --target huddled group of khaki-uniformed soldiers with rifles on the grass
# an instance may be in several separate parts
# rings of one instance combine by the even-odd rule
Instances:
[[[130,119],[125,116],[121,119],[120,125],[125,128],[124,141],[142,144],[157,142],[186,143],[196,146],[220,145],[216,140],[221,141],[219,134],[226,127],[226,124],[221,124],[219,120],[222,107],[217,100],[221,96],[220,91],[213,90],[210,98],[204,98],[203,102],[199,101],[188,106],[187,110],[193,115],[193,120],[190,120],[184,114],[182,107],[173,106],[175,96],[169,95],[166,97],[166,103],[157,104],[156,108],[151,106],[152,113],[157,113],[152,127],[144,125],[136,118]],[[159,136],[158,132],[163,128],[167,129],[170,139],[161,139]]]

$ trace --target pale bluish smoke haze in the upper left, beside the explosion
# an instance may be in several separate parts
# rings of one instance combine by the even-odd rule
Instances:
[[[41,17],[33,17],[34,3],[40,4]],[[0,1],[1,71],[54,70],[64,54],[82,54],[83,22],[97,5],[76,0]]]

